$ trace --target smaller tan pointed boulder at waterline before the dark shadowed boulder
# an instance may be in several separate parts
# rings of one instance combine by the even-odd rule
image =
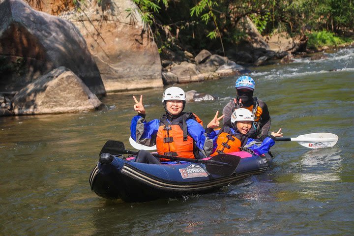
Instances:
[[[13,98],[14,115],[88,111],[102,102],[72,71],[54,69],[21,89]]]

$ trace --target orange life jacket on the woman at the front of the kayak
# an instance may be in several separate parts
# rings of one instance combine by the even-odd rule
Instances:
[[[187,131],[186,120],[190,118],[203,126],[203,121],[193,113],[184,113],[171,122],[167,121],[166,115],[160,118],[160,126],[156,135],[158,154],[185,158],[195,158],[199,155],[199,150]]]

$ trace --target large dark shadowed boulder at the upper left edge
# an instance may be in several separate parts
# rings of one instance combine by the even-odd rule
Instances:
[[[6,66],[0,68],[0,91],[17,91],[65,66],[93,93],[106,93],[80,31],[68,21],[33,10],[22,0],[0,2],[1,59]]]

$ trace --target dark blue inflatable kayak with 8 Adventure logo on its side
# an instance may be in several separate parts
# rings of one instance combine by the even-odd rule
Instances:
[[[248,151],[238,151],[228,153],[228,156],[238,158],[237,166],[225,176],[208,167],[210,158],[205,158],[206,163],[180,161],[173,164],[146,164],[134,162],[134,156],[100,153],[99,162],[90,174],[89,184],[91,190],[102,198],[146,202],[212,192],[265,171],[272,161],[268,153],[258,156]]]

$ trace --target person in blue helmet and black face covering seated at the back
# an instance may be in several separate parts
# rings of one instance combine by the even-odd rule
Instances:
[[[266,103],[258,97],[253,97],[255,82],[249,76],[240,76],[236,80],[236,98],[231,100],[223,109],[223,125],[232,127],[231,115],[238,108],[252,112],[254,124],[248,132],[251,138],[265,139],[270,128],[270,116]]]

